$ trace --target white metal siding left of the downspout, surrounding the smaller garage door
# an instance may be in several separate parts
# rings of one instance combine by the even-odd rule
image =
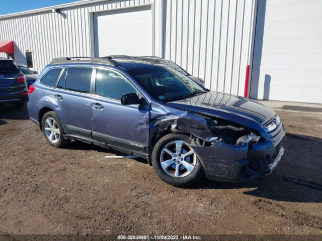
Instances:
[[[0,42],[14,40],[15,60],[26,64],[25,51],[33,52],[34,68],[41,71],[53,58],[64,56],[94,56],[92,51],[91,14],[97,11],[152,4],[153,55],[162,54],[162,2],[160,0],[120,0],[87,3],[0,19]],[[93,43],[94,44],[94,43]],[[117,53],[116,53],[117,54]],[[0,56],[5,57],[4,53]]]

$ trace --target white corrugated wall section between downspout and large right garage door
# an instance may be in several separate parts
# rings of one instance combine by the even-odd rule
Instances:
[[[167,0],[165,57],[212,90],[243,95],[255,0]]]

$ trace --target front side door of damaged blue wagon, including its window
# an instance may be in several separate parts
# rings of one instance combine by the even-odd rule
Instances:
[[[123,94],[139,94],[136,88],[118,72],[97,69],[95,92],[91,101],[93,138],[110,146],[147,153],[149,107],[121,104]]]

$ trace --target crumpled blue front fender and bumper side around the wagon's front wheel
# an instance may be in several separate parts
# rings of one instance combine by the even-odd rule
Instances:
[[[150,106],[150,137],[162,132],[188,134],[192,148],[200,157],[205,170],[222,175],[232,162],[247,159],[248,145],[229,145],[209,129],[205,118],[185,110],[152,103]],[[150,138],[155,142],[157,138]],[[207,144],[207,145],[206,145]]]

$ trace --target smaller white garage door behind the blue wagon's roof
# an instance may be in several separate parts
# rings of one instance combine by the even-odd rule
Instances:
[[[152,55],[151,6],[94,14],[95,55]]]

